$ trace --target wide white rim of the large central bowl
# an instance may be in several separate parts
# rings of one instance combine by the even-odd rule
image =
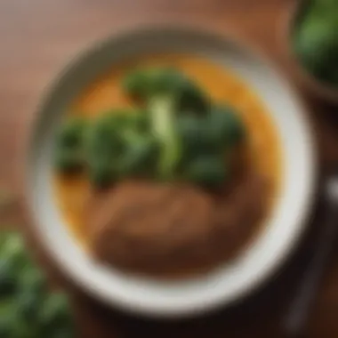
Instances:
[[[262,97],[282,142],[278,203],[262,234],[234,262],[175,282],[125,275],[93,262],[70,236],[52,194],[52,143],[62,114],[86,84],[115,62],[142,53],[194,52],[233,69]],[[271,276],[304,229],[314,190],[310,128],[298,97],[270,62],[229,38],[190,28],[156,27],[109,38],[78,59],[52,84],[37,112],[27,157],[27,194],[34,230],[60,269],[101,301],[148,316],[182,317],[241,299]]]

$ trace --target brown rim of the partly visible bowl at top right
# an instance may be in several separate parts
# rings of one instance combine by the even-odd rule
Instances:
[[[296,22],[309,3],[309,0],[295,1],[286,11],[286,18],[283,20],[282,27],[283,47],[286,51],[286,58],[296,80],[299,81],[310,94],[315,95],[322,101],[338,106],[338,87],[334,88],[312,75],[310,71],[303,66],[302,61],[294,53],[292,45],[290,44]]]

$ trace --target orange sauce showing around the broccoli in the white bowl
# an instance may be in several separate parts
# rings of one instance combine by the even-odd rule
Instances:
[[[213,101],[228,102],[243,119],[248,134],[249,155],[255,168],[270,180],[270,200],[278,194],[281,154],[278,133],[270,120],[263,102],[241,78],[230,70],[210,60],[188,54],[153,55],[115,65],[84,89],[69,107],[69,114],[94,117],[111,108],[131,106],[120,88],[125,72],[135,66],[173,66],[181,69]],[[69,229],[85,244],[83,217],[84,203],[90,193],[90,185],[84,176],[65,179],[56,175],[56,200]]]

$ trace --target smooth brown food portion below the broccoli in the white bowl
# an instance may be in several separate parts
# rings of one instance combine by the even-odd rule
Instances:
[[[255,175],[217,197],[191,185],[126,181],[88,200],[89,247],[130,270],[197,270],[236,254],[265,202],[266,182]]]

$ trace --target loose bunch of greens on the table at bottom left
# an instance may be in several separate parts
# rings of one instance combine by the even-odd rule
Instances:
[[[11,287],[0,292],[0,337],[74,337],[66,296],[48,290],[18,233],[0,233],[0,267],[5,267],[0,284],[11,280]]]

